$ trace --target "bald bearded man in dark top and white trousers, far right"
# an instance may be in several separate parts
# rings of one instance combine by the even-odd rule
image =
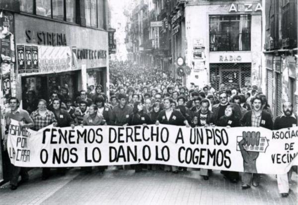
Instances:
[[[283,128],[290,128],[297,126],[297,117],[293,113],[293,105],[290,102],[285,102],[283,104],[283,114],[278,116],[273,124],[273,130],[279,130]],[[290,186],[289,181],[292,177],[292,168],[287,174],[277,175],[277,185],[279,193],[282,197],[288,197]]]

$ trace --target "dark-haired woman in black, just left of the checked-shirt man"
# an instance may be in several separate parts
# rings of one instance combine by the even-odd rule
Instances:
[[[220,127],[240,127],[239,119],[235,116],[234,107],[228,105],[224,110],[224,116],[219,119],[218,126]],[[237,183],[239,181],[239,173],[238,172],[230,172],[230,171],[221,171],[224,175],[224,178],[230,180],[232,183]]]

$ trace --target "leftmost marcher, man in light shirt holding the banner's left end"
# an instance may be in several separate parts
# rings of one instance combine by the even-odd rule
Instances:
[[[19,126],[21,128],[32,128],[34,126],[34,122],[26,110],[19,108],[19,105],[20,105],[19,100],[16,97],[11,97],[8,102],[10,106],[10,111],[8,111],[5,116],[6,129],[7,129],[5,133],[8,134],[8,128],[11,123],[11,119],[18,121]],[[6,141],[7,141],[6,136],[7,135],[5,135],[5,139],[3,142],[5,147],[6,147]],[[13,164],[11,166],[12,166],[12,170],[11,170],[11,179],[10,179],[10,189],[16,190],[18,185],[19,175],[21,175],[20,183],[24,183],[28,181],[28,172],[25,167],[17,167],[17,166],[14,166]]]

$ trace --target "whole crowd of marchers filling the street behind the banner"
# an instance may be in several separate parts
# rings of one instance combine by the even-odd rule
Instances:
[[[56,127],[74,126],[134,126],[166,124],[186,127],[264,127],[279,130],[297,126],[297,116],[290,102],[283,103],[280,115],[274,117],[266,96],[257,86],[240,87],[239,84],[222,83],[216,90],[211,84],[199,87],[191,83],[182,84],[181,79],[172,78],[159,68],[132,65],[128,62],[110,63],[109,98],[101,85],[88,85],[72,99],[68,85],[54,87],[48,101],[39,99],[33,90],[26,93],[23,106],[20,99],[9,99],[10,111],[6,113],[6,128],[10,120],[19,121],[21,127],[38,131],[53,124]],[[6,130],[7,132],[7,130]],[[7,140],[7,139],[5,139]],[[4,142],[5,144],[5,142]],[[13,166],[13,165],[12,165]],[[161,165],[131,165],[135,172],[164,170],[179,174],[186,167]],[[96,167],[102,173],[106,166]],[[118,169],[128,169],[117,166]],[[290,192],[293,167],[287,174],[276,176],[281,197]],[[65,175],[67,168],[58,168],[58,174]],[[95,170],[94,170],[95,171]],[[92,167],[82,168],[82,172],[92,172]],[[212,177],[212,170],[200,169],[203,180]],[[297,172],[297,170],[296,170]],[[51,177],[50,168],[42,168],[42,180]],[[241,188],[258,187],[260,174],[221,171],[231,183],[239,183]],[[21,180],[19,181],[19,175]],[[29,179],[26,168],[13,166],[10,189]]]

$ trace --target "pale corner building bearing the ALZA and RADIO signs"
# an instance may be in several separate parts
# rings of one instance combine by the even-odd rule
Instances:
[[[155,19],[161,21],[159,27],[151,27],[154,65],[169,70],[187,86],[191,82],[201,88],[211,83],[216,89],[221,83],[261,85],[262,0],[153,3]],[[178,58],[184,60],[184,72],[179,74]]]

